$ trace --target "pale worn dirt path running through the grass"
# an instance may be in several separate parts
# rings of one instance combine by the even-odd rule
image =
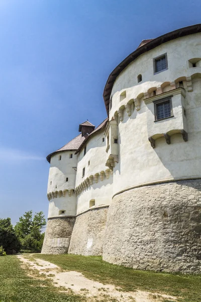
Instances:
[[[66,290],[70,289],[76,294],[84,295],[87,297],[87,301],[157,302],[163,301],[164,298],[176,301],[175,297],[165,294],[150,293],[141,290],[134,292],[121,291],[121,288],[117,288],[114,285],[104,285],[100,282],[87,279],[79,272],[63,271],[53,263],[38,258],[34,259],[32,255],[18,255],[18,258],[29,269],[38,270],[39,274],[51,277],[54,286],[62,286]]]

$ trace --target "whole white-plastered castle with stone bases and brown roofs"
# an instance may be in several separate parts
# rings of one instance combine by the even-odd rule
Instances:
[[[108,117],[48,155],[44,254],[201,269],[201,24],[143,40],[110,74]]]

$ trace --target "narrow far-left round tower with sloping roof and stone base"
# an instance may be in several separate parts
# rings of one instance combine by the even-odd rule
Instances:
[[[47,189],[49,211],[43,254],[64,254],[68,251],[76,215],[75,151],[83,140],[84,136],[79,134],[47,157],[50,163]]]

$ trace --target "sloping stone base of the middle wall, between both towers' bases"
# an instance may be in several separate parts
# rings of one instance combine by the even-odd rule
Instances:
[[[76,217],[68,254],[102,255],[108,207],[91,209]]]

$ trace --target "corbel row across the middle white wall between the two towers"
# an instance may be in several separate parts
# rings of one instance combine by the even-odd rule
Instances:
[[[79,186],[75,188],[75,194],[80,195],[83,191],[87,190],[92,184],[98,183],[99,181],[104,181],[105,178],[109,179],[112,173],[113,171],[111,169],[107,169],[106,171],[100,171],[99,173],[90,175],[84,181],[82,181]]]

